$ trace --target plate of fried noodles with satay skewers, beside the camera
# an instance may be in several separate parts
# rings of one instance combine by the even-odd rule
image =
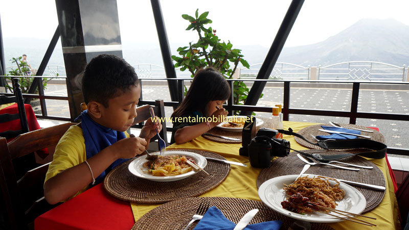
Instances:
[[[259,188],[261,201],[270,209],[285,216],[308,222],[331,223],[343,221],[326,213],[326,208],[360,214],[367,201],[355,188],[335,179],[319,175],[285,175],[269,179]],[[319,212],[320,210],[322,212]]]

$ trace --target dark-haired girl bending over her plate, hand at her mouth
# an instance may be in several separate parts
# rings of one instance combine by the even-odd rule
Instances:
[[[185,99],[172,114],[171,144],[191,141],[220,124],[228,114],[223,103],[230,95],[230,86],[219,72],[209,67],[198,71]]]

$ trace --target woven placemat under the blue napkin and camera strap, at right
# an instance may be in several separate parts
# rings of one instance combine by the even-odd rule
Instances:
[[[371,129],[365,126],[360,126],[360,125],[352,125],[352,124],[340,124],[341,126],[346,126],[346,127],[352,127],[352,128],[358,128],[358,129],[367,129],[367,130],[371,130],[373,132],[362,132],[362,135],[366,135],[366,136],[370,136],[372,141],[377,141],[377,142],[381,142],[381,143],[385,143],[385,137],[382,135],[382,133],[376,131],[375,129]],[[312,126],[308,126],[305,127],[303,129],[301,129],[300,131],[298,131],[297,133],[304,136],[305,139],[307,139],[308,141],[312,142],[312,143],[317,143],[317,141],[315,141],[315,139],[313,139],[313,137],[310,135],[314,135],[314,136],[318,136],[318,135],[330,135],[331,133],[328,132],[323,132],[320,131],[319,129],[322,129],[321,126],[332,126],[330,124],[319,124],[319,125],[312,125]],[[358,138],[362,138],[362,137],[358,137]],[[319,146],[316,145],[311,145],[310,143],[304,141],[303,139],[301,139],[300,137],[295,137],[296,142],[304,147],[307,147],[309,149],[321,149]],[[350,151],[348,151],[350,152]]]

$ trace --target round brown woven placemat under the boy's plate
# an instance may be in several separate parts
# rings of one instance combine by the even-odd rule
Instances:
[[[225,159],[208,151],[178,149],[203,156]],[[164,203],[186,197],[199,196],[218,186],[229,174],[230,165],[208,160],[205,172],[197,172],[188,178],[170,182],[157,182],[139,178],[128,170],[132,160],[116,167],[104,179],[104,188],[112,196],[136,203]]]

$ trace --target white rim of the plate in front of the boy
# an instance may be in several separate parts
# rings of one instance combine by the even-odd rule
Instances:
[[[200,154],[198,154],[198,153],[195,153],[195,152],[179,151],[179,150],[167,150],[167,151],[165,151],[165,154],[166,154],[166,155],[173,155],[173,154],[174,154],[174,155],[177,155],[176,153],[179,153],[179,155],[180,155],[180,152],[183,152],[182,154],[185,154],[185,155],[186,155],[186,153],[187,153],[187,154],[190,154],[190,155],[193,155],[193,156],[199,158],[199,159],[201,160],[201,163],[199,164],[199,166],[200,166],[201,168],[205,168],[206,165],[207,165],[207,163],[208,163],[206,157],[204,157],[204,156],[202,156],[202,155],[200,155]],[[142,179],[151,180],[151,181],[169,182],[169,181],[176,181],[176,180],[185,179],[185,178],[187,178],[187,177],[189,177],[189,176],[192,176],[192,175],[194,175],[194,174],[196,174],[196,173],[199,172],[199,171],[194,171],[194,170],[192,170],[192,171],[187,172],[187,173],[184,173],[184,174],[179,174],[179,175],[175,175],[175,176],[161,176],[161,177],[159,177],[159,176],[147,175],[147,174],[143,174],[143,173],[139,173],[139,172],[137,171],[137,169],[135,169],[134,165],[137,164],[137,163],[139,163],[139,162],[141,162],[141,160],[142,160],[143,163],[144,163],[145,160],[146,160],[145,157],[146,157],[146,155],[139,156],[139,157],[133,159],[133,160],[129,163],[129,165],[128,165],[128,171],[129,171],[132,175],[137,176],[137,177],[142,178]],[[142,165],[143,163],[141,163],[141,164],[139,164],[139,165]]]

